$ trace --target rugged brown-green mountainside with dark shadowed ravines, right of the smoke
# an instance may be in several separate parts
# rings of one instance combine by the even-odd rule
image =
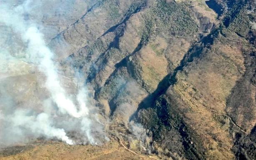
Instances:
[[[231,1],[210,0],[214,12],[201,0],[91,0],[48,41],[66,76],[83,73],[110,128],[142,123],[159,157],[253,160],[256,7]],[[26,71],[16,76],[35,82]],[[47,92],[30,81],[28,93]]]

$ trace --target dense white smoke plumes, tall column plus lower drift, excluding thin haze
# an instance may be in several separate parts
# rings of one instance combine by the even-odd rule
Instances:
[[[16,136],[18,139],[15,142],[19,142],[19,138],[21,139],[28,135],[34,138],[43,135],[47,138],[58,138],[72,145],[75,142],[68,138],[65,129],[73,130],[75,128],[75,130],[80,131],[80,134],[83,134],[84,141],[96,144],[94,136],[91,135],[91,125],[100,125],[94,120],[97,118],[97,114],[90,113],[92,107],[87,107],[85,88],[83,86],[80,87],[78,93],[72,95],[75,98],[66,93],[60,83],[59,67],[54,61],[55,54],[47,47],[38,25],[31,20],[24,20],[23,15],[29,10],[32,3],[33,1],[26,0],[16,7],[8,6],[5,3],[0,4],[0,25],[10,27],[15,34],[20,35],[26,46],[25,61],[35,64],[40,72],[46,76],[45,87],[50,93],[51,101],[58,109],[55,114],[51,114],[48,111],[49,108],[50,110],[55,109],[53,106],[42,108],[43,111],[41,113],[36,113],[30,109],[15,109],[13,113],[6,114],[4,113],[4,108],[0,106],[0,129],[2,129],[0,137],[1,134],[3,136],[3,139],[0,138],[0,142],[8,143],[9,137],[6,134]],[[2,57],[6,55],[6,51],[4,51],[4,48],[0,49]],[[9,57],[12,56],[9,55]],[[15,57],[12,57],[12,59],[15,59]],[[4,101],[6,100],[4,99]],[[56,116],[57,118],[54,118]],[[65,121],[55,122],[54,119],[58,119],[58,117],[64,118]],[[3,121],[2,126],[1,121]],[[75,126],[70,127],[70,125]]]

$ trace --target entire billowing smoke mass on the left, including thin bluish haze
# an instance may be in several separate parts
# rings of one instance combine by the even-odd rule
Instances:
[[[29,12],[39,12],[33,10],[36,2],[0,4],[0,145],[41,136],[70,145],[98,144],[98,137],[105,136],[104,124],[88,89],[79,79],[63,75],[40,30],[43,26],[27,18]]]

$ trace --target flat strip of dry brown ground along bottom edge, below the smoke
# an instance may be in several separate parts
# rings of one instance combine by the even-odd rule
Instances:
[[[0,154],[1,160],[158,160],[156,155],[144,155],[128,149],[115,136],[101,146],[37,141],[8,148]],[[9,154],[13,156],[6,156]]]

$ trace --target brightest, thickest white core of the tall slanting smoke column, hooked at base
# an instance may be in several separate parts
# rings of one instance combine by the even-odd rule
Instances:
[[[35,59],[38,59],[38,62],[40,63],[40,70],[47,76],[46,85],[53,100],[63,114],[68,113],[75,118],[88,115],[88,108],[86,108],[85,103],[83,102],[84,99],[81,99],[85,98],[80,95],[82,93],[79,93],[77,96],[80,106],[80,111],[78,111],[74,103],[67,97],[65,90],[60,86],[60,79],[58,78],[56,66],[52,60],[53,53],[46,47],[42,37],[42,34],[40,34],[37,28],[29,26],[23,38],[25,42],[29,42],[29,53],[35,54],[33,56]]]

